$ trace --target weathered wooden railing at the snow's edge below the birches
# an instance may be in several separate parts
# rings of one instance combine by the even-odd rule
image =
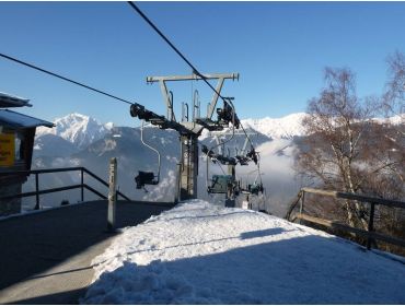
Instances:
[[[305,201],[305,193],[313,193],[319,196],[326,196],[332,197],[334,199],[347,199],[347,200],[356,200],[360,202],[367,202],[370,204],[370,217],[368,221],[368,228],[367,231],[351,227],[347,224],[344,224],[339,221],[331,221],[325,220],[316,216],[311,216],[309,214],[303,213],[304,210],[304,201]],[[300,203],[299,213],[292,214],[293,210],[297,208],[298,203]],[[371,249],[371,243],[373,240],[382,240],[389,244],[393,244],[396,246],[405,247],[405,240],[395,238],[392,236],[387,236],[385,234],[380,234],[374,232],[374,212],[375,205],[385,205],[389,208],[400,208],[405,209],[405,202],[396,201],[396,200],[387,200],[381,198],[373,198],[368,196],[361,196],[356,193],[349,192],[340,192],[340,191],[332,191],[332,190],[321,190],[321,189],[313,189],[313,188],[302,188],[298,193],[297,199],[290,205],[286,219],[289,221],[294,220],[303,220],[313,224],[323,225],[331,229],[339,229],[349,233],[355,233],[358,236],[367,238],[367,249]]]

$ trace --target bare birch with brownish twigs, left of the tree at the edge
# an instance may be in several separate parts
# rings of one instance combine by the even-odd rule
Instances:
[[[391,190],[398,197],[404,185],[392,173],[403,167],[404,144],[390,137],[390,127],[371,119],[381,99],[358,98],[349,69],[327,68],[325,83],[320,96],[309,102],[303,126],[310,137],[297,158],[299,172],[324,188],[367,195]],[[350,226],[367,228],[362,203],[345,201],[340,211]]]

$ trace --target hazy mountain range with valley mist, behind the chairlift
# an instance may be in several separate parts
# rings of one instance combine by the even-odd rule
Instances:
[[[302,181],[293,170],[294,156],[300,150],[304,130],[301,125],[305,114],[292,114],[279,119],[244,119],[242,123],[261,156],[261,176],[266,188],[264,208],[276,215],[284,215],[291,199],[297,195]],[[84,166],[107,180],[108,163],[111,157],[118,161],[118,185],[120,190],[134,200],[172,201],[174,198],[174,184],[176,180],[176,163],[180,160],[178,134],[173,130],[161,130],[155,127],[144,129],[144,139],[157,148],[162,155],[160,184],[148,186],[144,190],[135,188],[135,176],[139,170],[148,170],[157,174],[158,155],[144,146],[140,140],[140,129],[129,127],[115,127],[113,123],[101,123],[91,117],[70,114],[55,120],[53,129],[40,128],[37,130],[34,145],[33,168],[55,168]],[[215,137],[218,133],[202,133],[199,144],[213,148]],[[234,155],[240,152],[245,136],[241,132],[231,136],[229,131],[225,139],[232,138],[227,143],[227,152]],[[221,136],[223,138],[223,136]],[[201,151],[200,151],[201,152]],[[227,154],[225,152],[225,154]],[[199,156],[198,173],[198,198],[210,201],[221,200],[222,195],[212,196],[207,192],[207,185],[212,174],[223,174],[225,166],[208,163],[205,154]],[[254,165],[238,166],[236,178],[243,184],[252,184],[257,176]],[[96,181],[85,183],[104,190],[105,187]],[[67,185],[80,184],[78,173],[48,174],[40,178],[42,188],[53,188]],[[35,183],[32,178],[24,185],[24,191],[32,191]],[[99,189],[100,188],[100,189]],[[63,199],[70,202],[79,200],[80,192],[77,190],[63,191]],[[85,195],[85,200],[95,199],[93,195]],[[34,199],[35,200],[35,199]],[[26,208],[33,205],[33,201],[26,202]],[[60,195],[51,193],[42,196],[44,205],[57,205],[60,203]]]

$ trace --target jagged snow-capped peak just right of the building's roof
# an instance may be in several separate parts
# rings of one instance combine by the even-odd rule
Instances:
[[[94,141],[102,139],[113,128],[113,123],[101,123],[99,120],[81,114],[70,114],[54,120],[55,128],[39,127],[36,138],[44,134],[55,134],[73,143],[78,149],[84,149]]]

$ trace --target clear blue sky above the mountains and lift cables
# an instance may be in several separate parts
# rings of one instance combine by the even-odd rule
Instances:
[[[304,111],[323,70],[348,67],[360,96],[380,94],[386,58],[405,52],[405,2],[138,2],[204,73],[225,82],[241,118]],[[190,69],[126,2],[0,2],[0,52],[165,114],[148,75]],[[175,84],[177,113],[202,82]],[[134,125],[128,105],[0,58],[0,91],[31,98],[22,113],[53,120],[72,111]],[[205,109],[205,106],[202,107]]]

